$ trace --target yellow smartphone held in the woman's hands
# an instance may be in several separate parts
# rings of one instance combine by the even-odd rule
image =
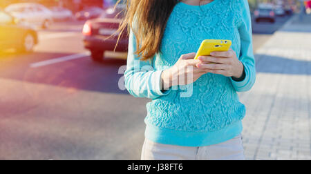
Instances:
[[[206,39],[202,41],[194,59],[198,59],[200,56],[209,56],[214,51],[228,51],[231,45],[232,41],[230,40]]]

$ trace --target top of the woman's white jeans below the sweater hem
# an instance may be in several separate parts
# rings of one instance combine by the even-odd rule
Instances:
[[[245,160],[242,135],[227,142],[202,147],[158,144],[145,139],[141,158],[142,160]]]

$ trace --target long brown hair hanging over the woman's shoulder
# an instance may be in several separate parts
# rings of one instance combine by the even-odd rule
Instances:
[[[119,32],[117,42],[126,28],[128,34],[132,30],[136,37],[135,55],[143,61],[151,59],[160,52],[167,21],[180,0],[118,0],[115,6],[122,1],[126,4],[126,9],[117,30]],[[139,21],[134,24],[135,29],[134,20]]]

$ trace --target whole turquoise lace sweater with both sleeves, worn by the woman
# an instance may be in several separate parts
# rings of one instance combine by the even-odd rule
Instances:
[[[205,74],[188,86],[162,93],[160,76],[181,55],[196,52],[204,39],[230,39],[245,66],[245,79]],[[209,146],[242,132],[245,106],[237,92],[250,90],[256,78],[252,27],[247,0],[214,0],[202,6],[178,3],[169,17],[158,54],[140,61],[130,32],[125,86],[147,104],[145,137],[160,144]]]

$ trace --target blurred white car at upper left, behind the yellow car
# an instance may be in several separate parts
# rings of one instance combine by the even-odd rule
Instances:
[[[53,21],[52,12],[38,3],[14,3],[8,6],[5,11],[19,21],[42,28],[48,28]]]

